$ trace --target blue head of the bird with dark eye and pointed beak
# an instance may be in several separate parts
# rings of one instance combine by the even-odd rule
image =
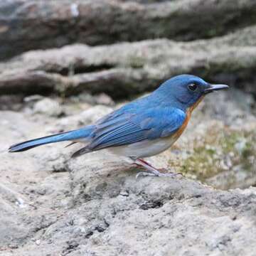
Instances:
[[[156,92],[188,109],[200,102],[204,95],[227,88],[228,85],[213,85],[195,75],[177,75],[164,82]]]

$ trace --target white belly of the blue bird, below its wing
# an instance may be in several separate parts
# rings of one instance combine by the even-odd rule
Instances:
[[[176,138],[177,139],[177,138]],[[174,137],[145,140],[125,146],[108,148],[108,151],[120,156],[128,156],[136,159],[154,156],[168,149],[174,142]]]

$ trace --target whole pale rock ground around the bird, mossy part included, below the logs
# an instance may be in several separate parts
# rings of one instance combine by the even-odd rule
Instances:
[[[176,146],[149,159],[185,177],[137,180],[138,169],[107,151],[70,159],[78,144],[7,153],[10,144],[90,124],[113,109],[73,99],[56,118],[34,112],[33,99],[22,112],[1,111],[0,255],[254,255],[252,97],[210,95]]]

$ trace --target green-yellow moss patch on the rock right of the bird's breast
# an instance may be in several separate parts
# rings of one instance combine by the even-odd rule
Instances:
[[[254,171],[256,159],[255,132],[224,131],[206,137],[205,141],[194,142],[193,153],[191,153],[178,171],[188,176],[196,176],[201,181],[215,176],[222,171],[233,169],[240,165],[244,171]],[[227,161],[228,159],[228,161]]]

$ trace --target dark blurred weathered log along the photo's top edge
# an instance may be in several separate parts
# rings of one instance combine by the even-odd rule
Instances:
[[[146,1],[144,1],[145,3]],[[255,0],[11,0],[0,3],[0,59],[31,49],[211,38],[256,23]]]

